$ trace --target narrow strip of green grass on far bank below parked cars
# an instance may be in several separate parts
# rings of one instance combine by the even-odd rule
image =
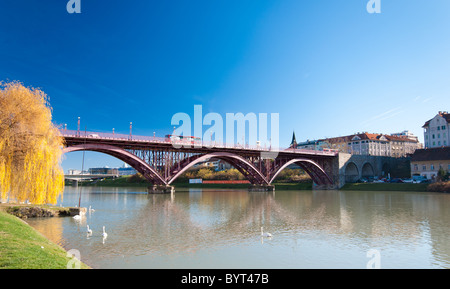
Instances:
[[[426,192],[428,184],[411,183],[356,183],[345,184],[341,190],[345,191],[409,191]]]

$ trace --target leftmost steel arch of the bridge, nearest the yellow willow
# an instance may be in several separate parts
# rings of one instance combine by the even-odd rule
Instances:
[[[116,157],[121,161],[126,162],[131,167],[136,169],[139,173],[141,173],[147,180],[157,185],[167,185],[167,182],[159,175],[159,173],[154,170],[151,166],[149,166],[146,162],[144,162],[141,158],[135,156],[134,154],[110,145],[103,144],[82,144],[65,147],[63,149],[63,153],[70,153],[75,151],[94,151],[100,152],[104,154],[108,154],[110,156]]]

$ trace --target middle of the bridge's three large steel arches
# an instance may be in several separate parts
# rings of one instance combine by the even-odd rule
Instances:
[[[193,167],[194,165],[202,163],[212,158],[220,159],[229,163],[237,170],[239,170],[252,184],[265,184],[265,185],[269,184],[264,175],[261,174],[261,172],[258,169],[256,169],[256,167],[251,162],[247,161],[245,158],[239,155],[226,152],[195,155],[191,158],[183,160],[182,162],[180,162],[180,165],[174,166],[179,167],[179,169],[172,171],[171,177],[169,179],[166,179],[167,184],[170,185],[175,179],[177,179],[180,175],[182,175],[184,172],[186,172],[189,168]]]

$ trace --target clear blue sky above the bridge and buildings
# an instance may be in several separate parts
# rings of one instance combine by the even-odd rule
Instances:
[[[410,130],[450,110],[450,2],[0,2],[0,80],[40,87],[54,122],[163,136],[172,116],[279,113],[280,144]],[[204,128],[206,130],[206,128]],[[81,167],[81,153],[63,168]],[[85,167],[121,162],[87,152]]]

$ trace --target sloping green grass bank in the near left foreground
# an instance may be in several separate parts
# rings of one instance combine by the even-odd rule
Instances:
[[[66,269],[71,260],[66,255],[31,226],[0,211],[0,269]],[[81,263],[81,268],[89,267]]]

